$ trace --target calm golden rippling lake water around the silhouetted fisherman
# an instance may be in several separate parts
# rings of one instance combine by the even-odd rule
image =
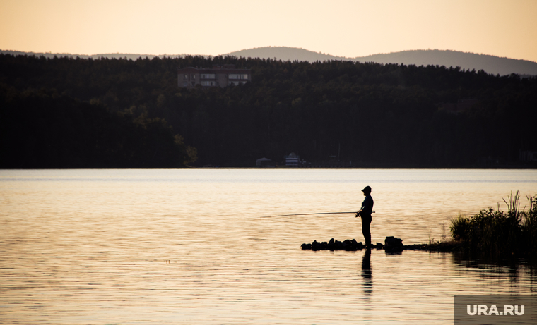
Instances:
[[[301,250],[449,236],[537,194],[535,170],[0,171],[2,324],[453,324],[454,295],[529,295],[537,272],[450,253]]]

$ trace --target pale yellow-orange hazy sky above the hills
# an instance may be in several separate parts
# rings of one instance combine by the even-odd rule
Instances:
[[[0,0],[0,49],[336,56],[451,49],[537,61],[537,0]]]

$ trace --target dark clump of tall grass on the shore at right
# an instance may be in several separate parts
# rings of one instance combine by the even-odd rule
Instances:
[[[463,250],[483,257],[537,257],[537,195],[520,210],[520,193],[504,199],[507,211],[481,210],[471,218],[458,216],[449,227]]]

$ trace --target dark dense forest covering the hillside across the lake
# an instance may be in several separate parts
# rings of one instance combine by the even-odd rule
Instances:
[[[177,87],[177,68],[221,64],[252,69],[252,82]],[[356,167],[536,166],[520,158],[537,151],[537,78],[482,70],[0,55],[0,96],[1,168],[254,166],[290,152]]]

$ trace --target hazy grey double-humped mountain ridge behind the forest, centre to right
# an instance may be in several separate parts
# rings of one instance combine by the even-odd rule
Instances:
[[[466,70],[485,70],[485,72],[494,75],[509,75],[511,73],[517,73],[519,75],[537,75],[537,63],[533,61],[438,49],[400,51],[388,54],[345,58],[342,56],[331,56],[329,54],[322,54],[294,47],[258,47],[256,49],[235,51],[225,55],[257,57],[262,59],[276,58],[283,61],[297,60],[314,62],[346,60],[376,63],[403,63],[405,65],[414,64],[415,66],[459,66]]]

